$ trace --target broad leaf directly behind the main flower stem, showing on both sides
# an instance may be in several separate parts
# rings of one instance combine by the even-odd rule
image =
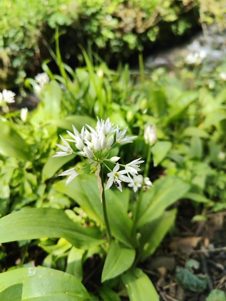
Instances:
[[[90,218],[104,224],[102,204],[94,175],[80,174],[66,187],[65,180],[63,180],[55,184],[54,188],[75,200]],[[110,189],[105,191],[105,196],[112,234],[123,243],[131,245],[133,222],[128,216],[120,196]]]

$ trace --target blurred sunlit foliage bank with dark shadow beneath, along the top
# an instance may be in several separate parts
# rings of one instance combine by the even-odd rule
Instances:
[[[1,89],[22,86],[34,77],[55,48],[59,27],[63,60],[82,65],[82,46],[91,47],[110,66],[138,52],[183,41],[217,22],[223,27],[223,0],[2,0],[0,3]]]

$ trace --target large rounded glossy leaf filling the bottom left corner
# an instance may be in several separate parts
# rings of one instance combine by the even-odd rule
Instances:
[[[73,275],[46,267],[22,267],[0,274],[1,301],[86,301],[87,290]]]

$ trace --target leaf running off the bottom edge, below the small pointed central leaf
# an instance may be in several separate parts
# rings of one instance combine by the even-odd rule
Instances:
[[[159,301],[158,293],[149,277],[140,269],[122,275],[130,301]]]

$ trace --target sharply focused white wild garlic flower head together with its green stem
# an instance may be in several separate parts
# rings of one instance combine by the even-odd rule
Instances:
[[[74,178],[76,178],[83,169],[90,168],[90,173],[95,173],[97,177],[98,189],[100,194],[100,200],[103,205],[104,220],[107,230],[108,241],[111,241],[110,226],[106,212],[106,202],[104,195],[104,177],[102,171],[102,165],[104,165],[109,173],[107,173],[107,183],[105,190],[109,189],[113,184],[118,190],[122,192],[122,182],[129,183],[129,187],[133,187],[134,192],[137,192],[138,188],[144,186],[146,188],[152,185],[148,177],[143,179],[143,176],[139,175],[141,171],[140,164],[144,163],[141,158],[136,159],[126,165],[120,164],[118,161],[120,157],[109,157],[109,152],[112,147],[117,143],[131,143],[137,136],[126,135],[128,127],[121,130],[118,124],[110,122],[109,118],[106,120],[100,120],[97,117],[97,123],[95,129],[86,124],[86,127],[82,127],[81,132],[73,126],[73,133],[67,131],[72,139],[64,139],[61,135],[63,144],[56,144],[61,150],[57,152],[53,157],[70,156],[77,154],[88,159],[89,163],[82,167],[71,168],[62,172],[59,176],[69,176],[66,180],[68,185]],[[73,146],[70,143],[74,143]],[[108,163],[114,163],[116,166],[111,170]]]

